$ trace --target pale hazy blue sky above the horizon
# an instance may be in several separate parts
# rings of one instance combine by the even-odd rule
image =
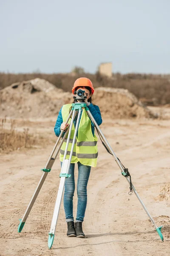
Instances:
[[[169,0],[0,0],[0,71],[170,73]]]

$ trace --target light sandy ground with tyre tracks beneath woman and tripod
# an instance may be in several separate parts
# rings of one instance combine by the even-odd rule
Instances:
[[[116,156],[128,167],[132,182],[158,226],[159,238],[136,195],[113,157],[99,141],[96,168],[88,183],[88,204],[83,222],[85,239],[66,236],[63,202],[54,244],[48,232],[59,186],[57,159],[21,233],[18,219],[28,206],[54,146],[55,118],[28,122],[31,132],[48,136],[44,148],[0,154],[0,256],[168,256],[170,255],[170,201],[160,201],[160,189],[170,182],[170,120],[109,120],[101,129]],[[77,168],[76,168],[77,178]],[[76,217],[77,195],[74,196]]]

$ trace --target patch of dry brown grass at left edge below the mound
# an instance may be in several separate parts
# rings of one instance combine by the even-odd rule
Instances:
[[[9,125],[9,128],[6,127]],[[25,128],[23,132],[16,131],[15,121],[11,120],[9,124],[6,118],[0,120],[0,151],[14,151],[20,148],[31,148],[38,143],[37,137],[28,133]]]

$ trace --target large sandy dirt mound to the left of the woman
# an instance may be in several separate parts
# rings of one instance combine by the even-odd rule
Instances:
[[[55,116],[71,99],[70,95],[44,79],[15,83],[0,91],[0,115],[14,118]]]

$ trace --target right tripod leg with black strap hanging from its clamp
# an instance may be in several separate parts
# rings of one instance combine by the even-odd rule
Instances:
[[[95,125],[97,131],[99,132],[99,134],[100,134],[100,136],[102,137],[103,141],[104,141],[105,144],[107,145],[109,151],[112,153],[113,158],[115,159],[115,161],[116,161],[116,163],[118,164],[119,168],[121,169],[122,172],[124,172],[124,169],[123,169],[122,165],[120,164],[120,161],[119,161],[118,158],[116,157],[116,154],[113,152],[111,146],[109,145],[109,143],[108,143],[108,141],[106,140],[104,134],[102,133],[101,129],[99,128],[99,125],[96,123],[96,120],[94,119],[94,117],[92,116],[92,114],[91,114],[91,112],[90,112],[89,110],[86,110],[86,111],[87,111],[88,116],[90,117],[90,119],[94,122],[94,125]],[[127,179],[128,183],[130,184],[130,180],[129,180],[127,177],[126,177],[126,179]],[[150,220],[152,221],[153,225],[155,226],[156,231],[158,232],[158,234],[159,234],[161,240],[164,241],[164,238],[163,238],[163,236],[162,236],[162,234],[161,234],[161,228],[162,228],[162,226],[161,226],[161,227],[157,227],[155,221],[153,220],[153,218],[151,217],[151,215],[150,215],[150,213],[148,212],[147,208],[145,207],[144,203],[142,202],[142,199],[139,197],[139,195],[138,195],[136,189],[134,188],[133,184],[132,184],[132,189],[133,189],[133,191],[134,191],[136,197],[138,198],[139,202],[142,204],[142,207],[144,208],[144,210],[145,210],[145,212],[147,213],[148,217],[150,218]]]

